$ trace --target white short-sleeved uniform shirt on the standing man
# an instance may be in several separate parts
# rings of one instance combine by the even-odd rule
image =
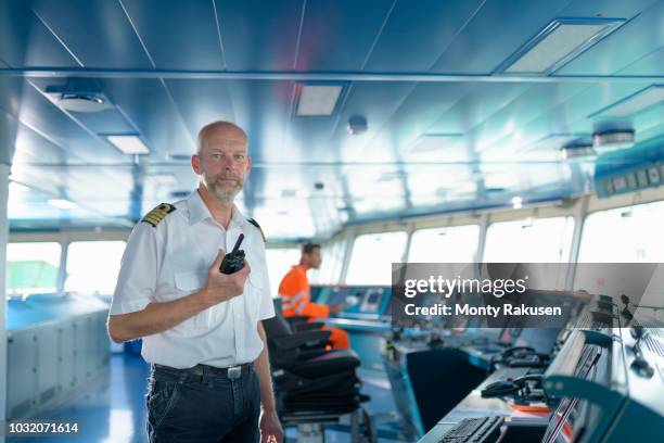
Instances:
[[[174,368],[253,362],[263,351],[257,324],[274,316],[260,231],[235,207],[225,229],[197,191],[174,206],[176,211],[156,227],[141,221],[131,231],[111,315],[141,311],[150,302],[168,302],[199,291],[218,250],[230,252],[242,232],[240,249],[251,267],[244,293],[171,329],[144,337],[141,353],[149,363]]]

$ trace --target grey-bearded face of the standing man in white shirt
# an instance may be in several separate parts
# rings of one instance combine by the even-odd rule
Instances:
[[[232,202],[250,172],[246,136],[232,127],[213,128],[192,165],[212,194],[220,201]]]

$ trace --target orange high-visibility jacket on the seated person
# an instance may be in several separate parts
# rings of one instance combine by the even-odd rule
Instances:
[[[330,315],[330,307],[311,302],[309,280],[304,266],[295,265],[283,276],[279,284],[281,309],[284,317],[305,316],[324,318]]]

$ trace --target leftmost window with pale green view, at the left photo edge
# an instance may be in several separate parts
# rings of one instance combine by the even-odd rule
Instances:
[[[7,294],[55,293],[61,253],[56,242],[8,243]]]

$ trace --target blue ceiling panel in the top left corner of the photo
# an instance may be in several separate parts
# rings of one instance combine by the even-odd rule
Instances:
[[[76,66],[24,1],[0,2],[0,60],[13,67]]]

